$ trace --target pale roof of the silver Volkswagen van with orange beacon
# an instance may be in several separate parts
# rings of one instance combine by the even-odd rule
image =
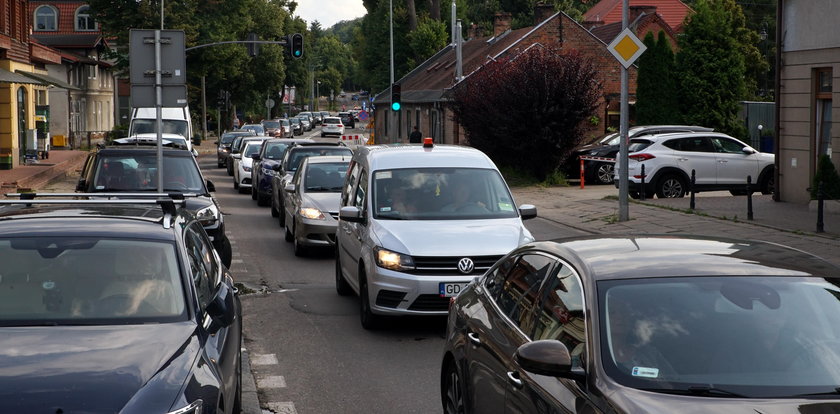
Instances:
[[[412,167],[461,167],[497,169],[496,164],[483,152],[460,145],[389,144],[362,146],[356,149],[356,159],[366,159],[374,170]]]

